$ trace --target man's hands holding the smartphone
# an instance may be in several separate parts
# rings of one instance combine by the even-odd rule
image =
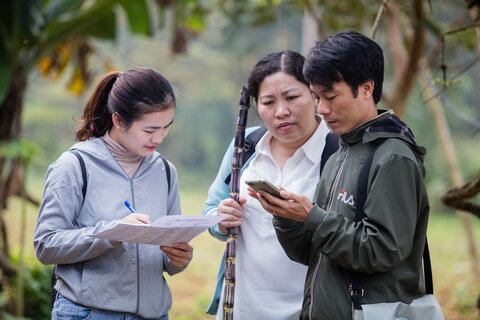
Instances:
[[[297,221],[305,221],[310,210],[312,210],[312,201],[301,194],[289,192],[282,187],[278,187],[283,199],[276,198],[267,192],[255,191],[248,187],[248,194],[257,199],[262,207],[276,217],[284,217]]]

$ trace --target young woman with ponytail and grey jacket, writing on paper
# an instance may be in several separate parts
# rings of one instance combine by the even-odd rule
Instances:
[[[34,233],[37,258],[57,265],[52,319],[168,319],[172,298],[163,272],[184,270],[193,248],[88,235],[118,221],[181,214],[175,167],[155,151],[174,113],[172,87],[147,68],[105,75],[86,103],[79,142],[48,168]],[[85,193],[72,151],[85,163]],[[126,200],[141,213],[129,214]]]

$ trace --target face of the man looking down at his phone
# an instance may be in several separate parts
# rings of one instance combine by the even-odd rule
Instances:
[[[333,133],[342,135],[360,124],[377,116],[373,102],[373,82],[367,81],[358,87],[353,96],[345,81],[335,82],[331,89],[322,85],[310,85],[317,112]]]

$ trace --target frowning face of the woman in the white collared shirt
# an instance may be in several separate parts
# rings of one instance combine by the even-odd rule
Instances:
[[[262,81],[257,105],[273,138],[286,146],[303,145],[317,128],[309,88],[286,73],[274,73]]]

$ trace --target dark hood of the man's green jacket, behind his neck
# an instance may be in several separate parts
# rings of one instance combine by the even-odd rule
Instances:
[[[417,145],[412,130],[392,110],[378,110],[377,117],[342,135],[342,140],[347,144],[360,141],[369,143],[386,138],[397,138],[407,142],[412,151],[423,162],[427,153],[425,147]]]

